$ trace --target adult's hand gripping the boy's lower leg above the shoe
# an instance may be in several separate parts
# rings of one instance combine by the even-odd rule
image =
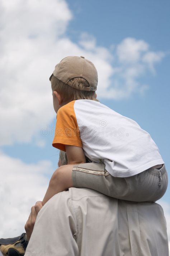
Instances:
[[[37,214],[43,207],[42,201],[38,201],[34,206],[31,208],[31,213],[29,214],[29,218],[25,224],[25,231],[27,233],[27,240],[29,241],[30,236],[33,232],[34,224],[36,222]]]

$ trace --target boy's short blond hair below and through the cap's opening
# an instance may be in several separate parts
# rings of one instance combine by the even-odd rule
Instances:
[[[76,77],[71,79],[69,83],[71,83],[73,87],[80,89],[73,88],[72,86],[63,83],[54,75],[51,78],[52,91],[58,92],[65,103],[69,103],[70,101],[74,101],[76,99],[91,99],[93,101],[99,101],[96,99],[94,91],[89,92],[82,90],[84,87],[89,87],[89,83],[86,79]]]

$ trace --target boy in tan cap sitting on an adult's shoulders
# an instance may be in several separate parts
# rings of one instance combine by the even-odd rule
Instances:
[[[135,121],[96,99],[93,63],[83,56],[66,57],[50,81],[57,113],[52,145],[66,152],[67,164],[53,173],[42,206],[69,187],[91,188],[122,200],[160,199],[167,172],[159,149]]]

